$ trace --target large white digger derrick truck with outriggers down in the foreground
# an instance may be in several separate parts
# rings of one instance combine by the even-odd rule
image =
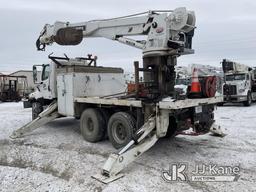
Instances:
[[[60,116],[80,118],[85,140],[97,142],[108,136],[115,148],[101,174],[104,183],[123,176],[121,171],[151,148],[161,137],[193,129],[195,134],[221,133],[214,123],[214,105],[222,97],[174,98],[174,67],[177,57],[192,54],[195,14],[186,8],[149,11],[82,23],[46,24],[36,42],[38,50],[47,45],[77,45],[83,38],[104,37],[139,48],[143,66],[134,62],[135,84],[127,91],[120,68],[99,67],[96,58],[53,57],[43,66],[41,84],[31,95],[34,120],[12,134],[23,136]],[[144,35],[146,40],[128,36]],[[35,68],[34,68],[35,69]],[[139,73],[143,72],[143,82]],[[42,104],[50,105],[44,110]],[[42,111],[42,112],[41,112]],[[39,113],[39,114],[38,114]]]

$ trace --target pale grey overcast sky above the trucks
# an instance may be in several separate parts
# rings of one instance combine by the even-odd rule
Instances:
[[[35,42],[44,24],[56,20],[82,22],[154,9],[186,7],[196,13],[194,55],[181,56],[178,65],[220,66],[223,58],[256,66],[255,0],[1,0],[0,71],[31,69],[47,63],[47,55],[70,57],[97,55],[99,65],[133,71],[141,51],[106,39],[84,39],[78,46],[48,46],[36,51]]]

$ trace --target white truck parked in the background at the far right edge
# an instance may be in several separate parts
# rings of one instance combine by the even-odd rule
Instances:
[[[256,69],[227,59],[223,59],[222,69],[224,101],[250,106],[256,100]]]

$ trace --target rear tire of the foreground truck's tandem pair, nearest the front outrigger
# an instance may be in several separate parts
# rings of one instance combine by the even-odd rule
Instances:
[[[129,143],[136,131],[135,118],[126,112],[114,113],[108,122],[108,137],[116,149]]]

